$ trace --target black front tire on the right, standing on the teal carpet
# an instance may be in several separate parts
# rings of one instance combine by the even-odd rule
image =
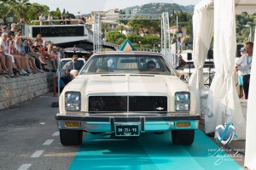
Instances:
[[[195,130],[172,130],[172,144],[193,144]]]

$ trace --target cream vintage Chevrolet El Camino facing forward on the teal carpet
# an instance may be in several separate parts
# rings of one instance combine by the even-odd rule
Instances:
[[[84,131],[117,137],[172,132],[173,144],[192,144],[200,120],[195,102],[162,54],[102,52],[63,89],[55,119],[64,145],[81,144]]]

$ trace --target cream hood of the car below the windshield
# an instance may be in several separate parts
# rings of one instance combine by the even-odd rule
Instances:
[[[65,91],[80,91],[85,94],[154,95],[174,94],[189,91],[178,77],[162,75],[86,75],[67,84]]]

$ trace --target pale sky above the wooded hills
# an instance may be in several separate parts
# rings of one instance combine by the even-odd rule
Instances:
[[[90,14],[91,11],[127,8],[146,3],[177,3],[180,5],[197,4],[201,0],[30,0],[30,3],[44,4],[50,10],[65,8],[71,14]]]

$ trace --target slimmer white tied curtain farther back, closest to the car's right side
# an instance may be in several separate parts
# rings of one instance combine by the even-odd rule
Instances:
[[[203,8],[193,15],[193,61],[195,71],[190,77],[189,86],[195,93],[196,113],[201,113],[200,89],[204,86],[203,65],[213,35],[213,9]]]

